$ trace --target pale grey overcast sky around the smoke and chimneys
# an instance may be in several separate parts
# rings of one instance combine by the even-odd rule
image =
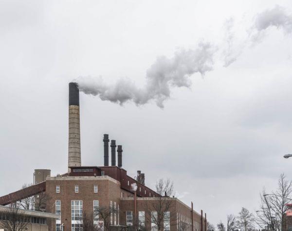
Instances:
[[[271,9],[286,16],[256,21]],[[163,109],[81,93],[82,165],[103,165],[108,133],[130,176],[142,170],[151,187],[170,178],[214,225],[242,206],[255,212],[263,186],[292,178],[282,157],[292,152],[291,15],[290,0],[1,0],[0,195],[36,168],[66,172],[70,81],[143,88],[157,57],[209,43],[211,68],[191,72],[188,87],[167,83]]]

